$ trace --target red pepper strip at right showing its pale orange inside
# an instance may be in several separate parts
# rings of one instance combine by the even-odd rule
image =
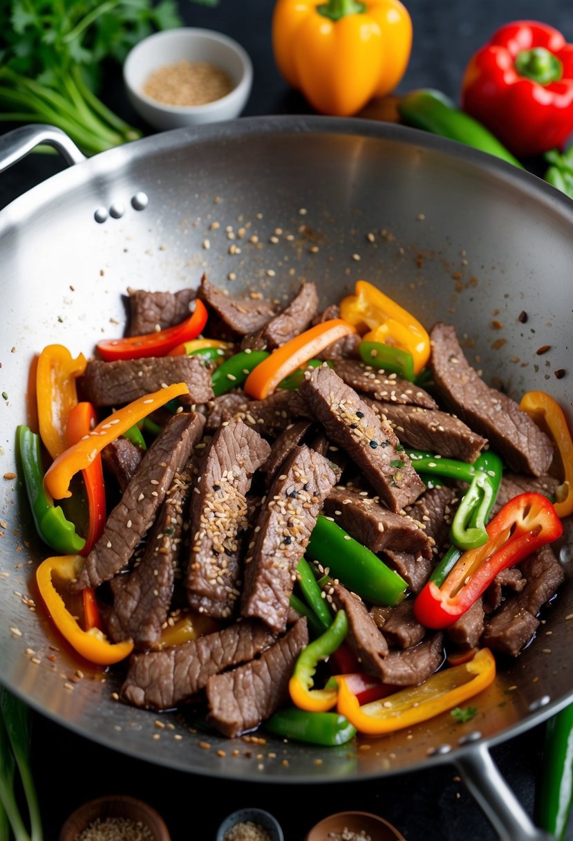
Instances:
[[[488,541],[463,553],[440,586],[430,580],[416,596],[414,614],[424,627],[453,625],[502,569],[556,540],[563,526],[544,495],[526,493],[507,502],[486,531]]]

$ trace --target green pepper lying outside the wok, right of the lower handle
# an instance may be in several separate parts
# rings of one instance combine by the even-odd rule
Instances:
[[[565,841],[573,805],[573,704],[545,724],[540,775],[535,791],[539,828]]]

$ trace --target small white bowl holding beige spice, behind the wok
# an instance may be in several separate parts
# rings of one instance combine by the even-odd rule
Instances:
[[[178,129],[238,117],[249,98],[253,66],[243,47],[227,35],[180,27],[156,32],[130,50],[124,84],[129,101],[147,123],[158,130]],[[148,84],[154,84],[154,97],[145,93]],[[169,98],[170,89],[180,101],[192,101],[183,98],[185,92],[218,98],[204,104],[160,101]]]

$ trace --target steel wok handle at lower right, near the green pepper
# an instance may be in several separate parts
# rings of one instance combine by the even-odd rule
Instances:
[[[500,841],[551,841],[551,835],[534,826],[485,744],[472,746],[455,764]]]

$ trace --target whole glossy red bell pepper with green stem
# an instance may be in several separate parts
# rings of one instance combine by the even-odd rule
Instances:
[[[562,148],[573,131],[573,45],[552,26],[502,26],[471,57],[461,107],[518,157]]]

